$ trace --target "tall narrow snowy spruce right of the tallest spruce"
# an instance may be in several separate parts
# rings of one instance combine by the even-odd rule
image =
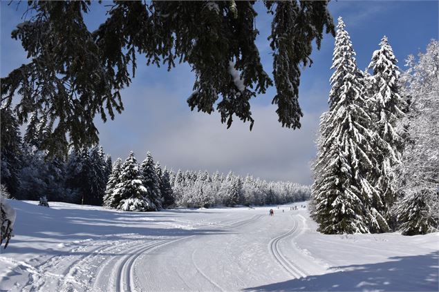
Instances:
[[[387,37],[380,42],[380,49],[373,52],[368,68],[373,69],[371,81],[371,100],[368,103],[373,113],[374,130],[381,139],[375,139],[375,157],[377,159],[377,173],[374,175],[375,188],[380,192],[383,204],[374,207],[386,215],[391,222],[389,209],[397,197],[395,191],[395,165],[400,163],[402,153],[402,139],[396,130],[396,124],[404,113],[405,102],[399,95],[398,60],[388,43]]]

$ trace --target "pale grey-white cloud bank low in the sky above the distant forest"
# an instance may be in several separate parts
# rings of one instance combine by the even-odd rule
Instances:
[[[305,113],[302,128],[281,128],[275,106],[252,105],[255,124],[235,119],[227,129],[218,113],[190,112],[180,101],[187,93],[129,88],[126,110],[99,126],[100,139],[113,158],[134,150],[139,160],[150,150],[160,164],[174,169],[230,170],[264,179],[310,183],[319,113]],[[130,93],[136,93],[131,95]]]

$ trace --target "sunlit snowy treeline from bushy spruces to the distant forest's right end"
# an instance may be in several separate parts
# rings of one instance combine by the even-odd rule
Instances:
[[[151,153],[139,164],[133,152],[122,164],[116,160],[106,185],[104,206],[124,211],[157,211],[169,206],[208,208],[284,204],[305,200],[310,188],[291,182],[265,182],[232,172],[168,171],[154,164]]]

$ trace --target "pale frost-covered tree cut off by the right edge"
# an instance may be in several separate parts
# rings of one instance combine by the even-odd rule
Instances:
[[[398,186],[405,195],[394,208],[404,235],[439,230],[439,42],[431,41],[416,64],[409,57],[407,90],[411,97],[409,143],[398,166]]]

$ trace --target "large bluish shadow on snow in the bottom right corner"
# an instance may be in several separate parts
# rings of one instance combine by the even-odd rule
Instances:
[[[389,257],[388,262],[337,266],[324,275],[288,280],[243,291],[439,291],[439,252]]]

